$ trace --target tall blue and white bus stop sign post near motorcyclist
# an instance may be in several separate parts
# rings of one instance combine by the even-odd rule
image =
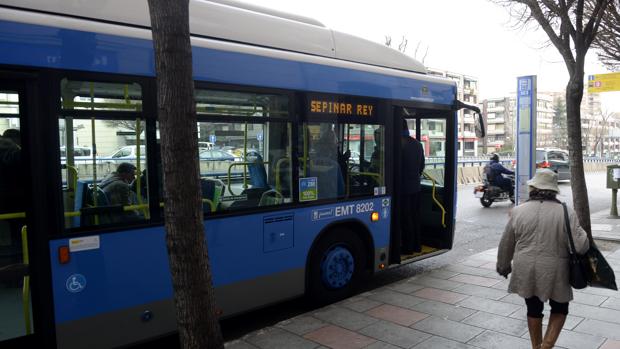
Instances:
[[[527,181],[536,170],[536,76],[517,78],[516,204],[529,198]]]

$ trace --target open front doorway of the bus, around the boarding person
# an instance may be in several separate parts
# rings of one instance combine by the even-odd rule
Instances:
[[[396,209],[392,215],[392,241],[390,242],[390,263],[415,261],[436,255],[452,248],[454,239],[454,218],[456,211],[456,149],[454,111],[437,111],[413,108],[397,108],[394,123],[394,205],[404,207],[407,196],[399,189],[401,184],[403,157],[401,149],[402,120],[408,125],[409,136],[422,144],[425,167],[420,178],[418,212],[402,212]],[[403,218],[411,216],[419,224],[418,239],[421,250],[413,253],[403,251],[402,241],[406,231]],[[406,218],[405,218],[406,219]]]

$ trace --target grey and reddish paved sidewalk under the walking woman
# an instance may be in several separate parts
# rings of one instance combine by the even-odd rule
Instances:
[[[600,231],[620,237],[620,220],[593,215],[592,222],[611,225]],[[620,276],[620,249],[603,253]],[[508,281],[495,273],[496,254],[488,250],[282,321],[226,348],[530,348],[525,303],[506,292]],[[574,294],[556,348],[620,349],[620,292]],[[546,323],[548,305],[545,313]]]

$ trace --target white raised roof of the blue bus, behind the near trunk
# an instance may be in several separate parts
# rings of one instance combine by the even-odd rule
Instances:
[[[147,0],[4,0],[3,4],[61,16],[150,27]],[[420,62],[385,45],[331,30],[308,17],[234,0],[191,0],[190,31],[197,37],[426,73]]]

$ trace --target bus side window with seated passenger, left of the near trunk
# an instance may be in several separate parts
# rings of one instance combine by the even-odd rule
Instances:
[[[59,118],[65,227],[148,219],[148,190],[140,176],[147,155],[141,87],[63,79],[61,96],[63,110],[92,114]],[[117,119],[103,119],[117,111],[122,112]]]

